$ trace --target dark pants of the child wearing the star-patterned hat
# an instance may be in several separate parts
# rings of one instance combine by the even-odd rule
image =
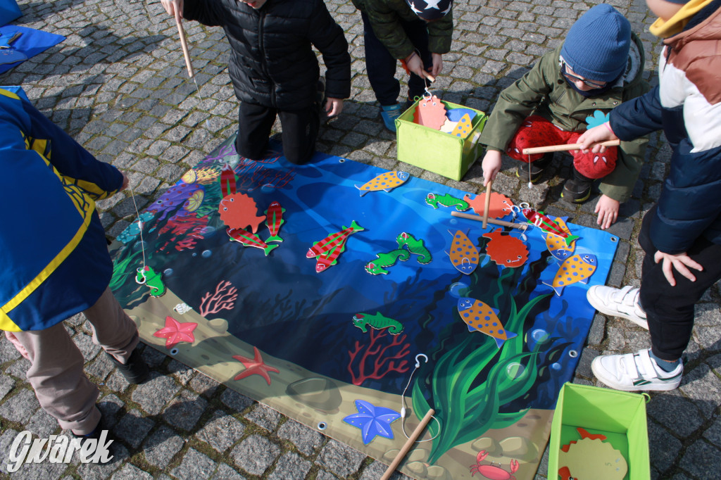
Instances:
[[[371,88],[381,105],[395,105],[398,103],[398,95],[401,92],[401,84],[395,78],[398,60],[393,58],[386,46],[376,37],[368,16],[361,12],[361,18],[363,19],[363,40],[366,45],[368,81],[371,82]],[[401,19],[400,22],[408,39],[420,52],[423,66],[430,71],[433,59],[428,51],[428,27],[425,22],[421,19],[414,22],[406,22]],[[425,92],[425,79],[421,79],[416,74],[410,74],[408,98],[412,100],[415,97],[422,97],[423,92]]]

